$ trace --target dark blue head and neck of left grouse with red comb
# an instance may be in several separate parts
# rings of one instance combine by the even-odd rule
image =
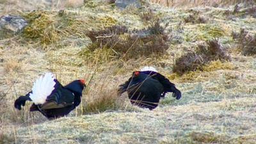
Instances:
[[[75,95],[82,95],[82,92],[84,88],[86,87],[84,79],[77,79],[75,81],[72,81],[71,83],[64,86],[64,88],[67,88],[71,92],[73,92]]]

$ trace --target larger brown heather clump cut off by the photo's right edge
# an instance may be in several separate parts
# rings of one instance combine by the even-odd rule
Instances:
[[[244,29],[240,29],[240,33],[232,31],[233,39],[237,40],[238,47],[244,55],[256,54],[256,34],[253,36]]]

